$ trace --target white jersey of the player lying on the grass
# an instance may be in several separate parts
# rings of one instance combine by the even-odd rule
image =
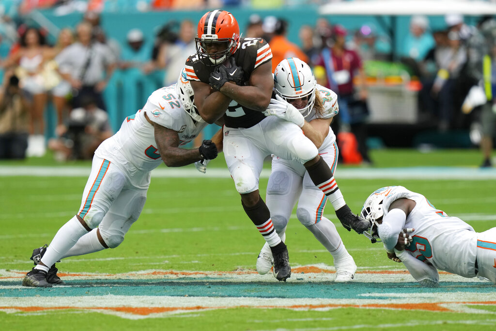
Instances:
[[[474,277],[477,254],[477,233],[458,217],[450,217],[436,209],[426,197],[402,186],[382,188],[384,216],[397,199],[416,202],[406,218],[405,228],[414,228],[413,242],[405,250],[420,261],[428,260],[434,267],[464,277]],[[387,192],[389,190],[389,192]],[[377,192],[377,191],[376,191]]]

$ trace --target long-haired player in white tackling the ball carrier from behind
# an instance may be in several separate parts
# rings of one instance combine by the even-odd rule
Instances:
[[[295,89],[294,82],[298,80],[301,86]],[[274,89],[280,101],[277,102],[276,99],[271,103],[282,105],[284,108],[286,107],[284,104],[288,102],[300,111],[305,118],[303,132],[318,148],[318,153],[334,174],[338,148],[336,136],[330,129],[330,124],[339,111],[336,93],[317,85],[310,66],[297,58],[286,59],[278,64],[274,71]],[[279,116],[279,113],[274,112],[273,105],[269,106],[268,112]],[[335,187],[337,188],[337,185]],[[339,189],[328,199],[334,210],[339,210],[346,205]],[[272,173],[267,185],[267,207],[270,210],[274,228],[283,241],[286,226],[297,200],[298,220],[313,233],[334,258],[335,281],[351,281],[357,265],[346,250],[334,224],[323,216],[327,202],[326,196],[313,184],[308,171],[300,162],[273,156]],[[260,274],[265,274],[272,267],[272,263],[270,248],[265,243],[258,255],[256,270]]]

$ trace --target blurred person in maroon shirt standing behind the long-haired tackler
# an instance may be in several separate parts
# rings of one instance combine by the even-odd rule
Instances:
[[[335,132],[352,132],[358,141],[358,151],[365,163],[371,163],[367,140],[366,120],[367,108],[367,86],[362,60],[358,54],[345,47],[346,29],[341,25],[335,25],[332,29],[333,46],[324,48],[318,66],[324,67],[327,74],[328,84],[326,87],[338,94],[339,116],[336,125],[339,126]],[[355,86],[355,75],[359,74]],[[338,135],[339,140],[339,135]]]

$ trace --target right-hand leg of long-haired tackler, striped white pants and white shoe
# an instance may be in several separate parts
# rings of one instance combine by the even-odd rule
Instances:
[[[357,265],[346,250],[334,224],[323,216],[326,201],[325,195],[313,185],[309,174],[306,173],[296,215],[300,222],[331,253],[336,267],[335,281],[351,281],[357,270]]]

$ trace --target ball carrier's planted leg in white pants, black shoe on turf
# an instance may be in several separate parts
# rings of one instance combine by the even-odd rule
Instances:
[[[276,278],[285,280],[291,275],[288,251],[274,230],[269,209],[258,191],[263,159],[268,155],[263,148],[263,134],[258,125],[241,130],[224,128],[224,156],[236,190],[241,195],[243,209],[279,262],[274,267]]]

